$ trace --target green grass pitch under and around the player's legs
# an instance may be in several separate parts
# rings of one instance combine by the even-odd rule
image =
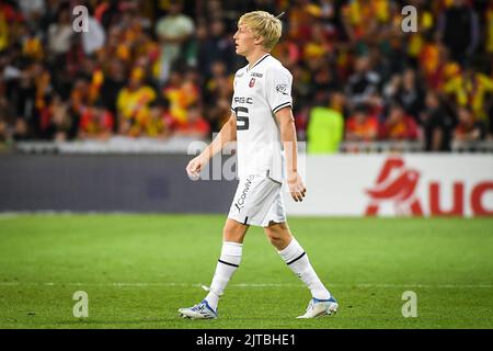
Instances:
[[[176,309],[205,296],[220,215],[0,217],[0,328],[492,328],[493,220],[296,218],[289,225],[333,295],[334,317],[297,320],[310,298],[260,228],[216,320]],[[74,292],[89,317],[72,314]],[[417,317],[402,316],[402,294]]]

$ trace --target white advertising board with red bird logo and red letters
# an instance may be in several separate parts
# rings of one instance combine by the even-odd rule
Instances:
[[[308,156],[307,197],[291,215],[492,216],[493,156]]]

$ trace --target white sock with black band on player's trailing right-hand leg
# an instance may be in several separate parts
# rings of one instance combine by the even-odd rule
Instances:
[[[331,294],[311,267],[307,253],[295,238],[284,250],[277,252],[289,269],[308,286],[313,297],[318,299],[331,298]]]

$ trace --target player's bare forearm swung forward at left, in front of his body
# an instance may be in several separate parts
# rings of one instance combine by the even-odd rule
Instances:
[[[237,116],[231,112],[228,122],[225,123],[216,138],[197,157],[188,162],[186,172],[196,177],[207,162],[229,143],[237,139]]]

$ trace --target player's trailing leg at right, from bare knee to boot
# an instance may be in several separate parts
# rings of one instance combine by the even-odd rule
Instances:
[[[303,318],[313,318],[322,315],[331,315],[337,309],[335,298],[323,285],[308,259],[308,254],[291,235],[286,223],[271,222],[264,231],[271,244],[277,249],[282,259],[289,269],[310,290],[312,299]]]

